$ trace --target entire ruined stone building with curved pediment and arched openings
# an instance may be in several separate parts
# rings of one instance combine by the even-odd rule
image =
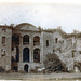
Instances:
[[[42,30],[28,23],[15,27],[0,25],[0,66],[5,70],[30,72],[44,67],[49,53],[55,53],[68,70],[81,62],[81,37],[62,29]]]

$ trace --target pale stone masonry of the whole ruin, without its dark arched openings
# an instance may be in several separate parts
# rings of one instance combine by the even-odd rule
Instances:
[[[28,72],[30,69],[36,69],[36,67],[44,67],[43,60],[46,54],[55,53],[59,59],[66,64],[69,71],[73,70],[75,62],[81,62],[81,38],[65,38],[57,30],[51,31],[40,31],[32,25],[24,25],[22,27],[0,27],[0,66],[5,69],[11,69],[11,56],[16,55],[16,45],[12,51],[12,35],[17,33],[19,36],[19,62],[18,71],[24,71],[24,66],[28,65]],[[29,36],[29,43],[24,44],[23,38],[25,35]],[[35,44],[33,38],[38,36],[40,38],[40,43]],[[3,41],[2,41],[3,40]],[[25,48],[29,49],[29,62],[23,60],[23,50]],[[33,50],[40,50],[40,62],[33,62]]]

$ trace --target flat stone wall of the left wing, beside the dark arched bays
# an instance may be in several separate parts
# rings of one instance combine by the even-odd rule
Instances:
[[[2,37],[5,39],[2,40]],[[0,28],[0,66],[4,69],[11,69],[11,45],[12,45],[12,29],[8,27]],[[4,43],[2,43],[4,41]]]

